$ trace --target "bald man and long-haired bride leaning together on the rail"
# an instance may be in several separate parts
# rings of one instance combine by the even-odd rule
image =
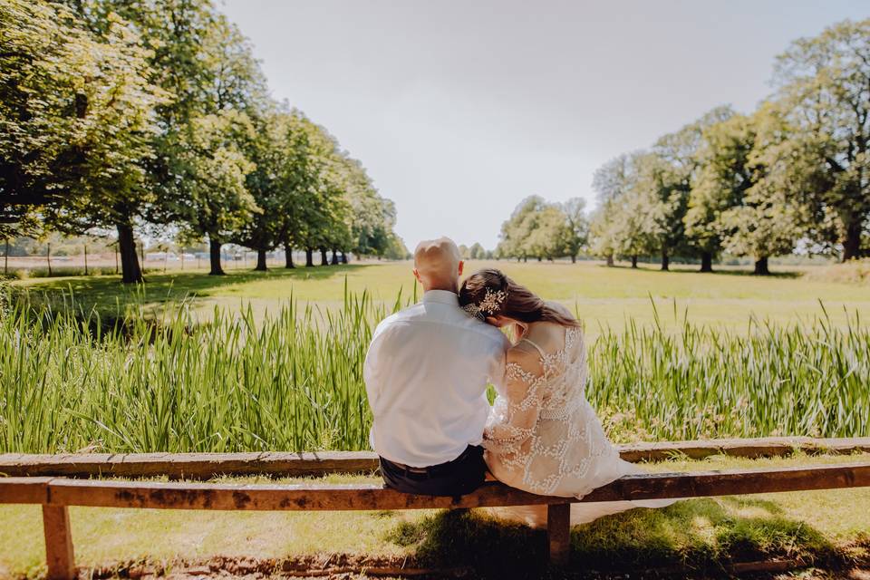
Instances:
[[[564,306],[495,269],[459,286],[463,263],[445,237],[421,242],[414,266],[423,300],[378,325],[364,366],[370,440],[389,487],[456,497],[489,470],[514,488],[582,498],[639,471],[620,459],[586,401],[583,331]],[[573,504],[571,520],[668,503]],[[499,511],[546,524],[544,506]]]

